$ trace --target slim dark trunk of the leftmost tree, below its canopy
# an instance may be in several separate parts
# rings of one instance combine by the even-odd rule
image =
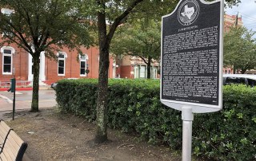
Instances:
[[[39,91],[39,68],[40,68],[40,53],[34,53],[34,65],[33,65],[33,95],[30,112],[38,112],[38,91]]]

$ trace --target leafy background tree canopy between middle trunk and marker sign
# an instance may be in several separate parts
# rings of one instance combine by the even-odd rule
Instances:
[[[111,52],[116,55],[131,55],[158,60],[161,47],[160,22],[140,19],[133,24],[121,26],[111,45]]]

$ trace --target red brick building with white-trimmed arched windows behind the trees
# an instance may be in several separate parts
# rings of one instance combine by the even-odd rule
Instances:
[[[1,37],[0,37],[1,38]],[[45,57],[44,52],[40,56],[39,81],[46,84],[63,78],[97,78],[99,66],[99,51],[97,47],[90,49],[81,48],[84,56],[75,51],[63,49],[56,52],[58,60]],[[115,77],[114,61],[110,58],[109,77]],[[17,81],[32,81],[33,60],[24,49],[15,44],[0,46],[0,81],[10,81],[15,77]],[[89,69],[89,73],[86,73]]]

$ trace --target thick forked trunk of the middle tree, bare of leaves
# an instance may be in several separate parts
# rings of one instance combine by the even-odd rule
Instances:
[[[118,25],[130,14],[131,10],[143,0],[134,0],[130,6],[115,18],[114,23],[110,26],[110,31],[106,33],[106,1],[95,0],[100,10],[98,10],[98,47],[99,47],[99,76],[98,76],[98,103],[97,103],[97,120],[95,143],[103,143],[107,140],[106,133],[106,112],[107,112],[107,88],[108,88],[108,69],[110,66],[110,41]]]

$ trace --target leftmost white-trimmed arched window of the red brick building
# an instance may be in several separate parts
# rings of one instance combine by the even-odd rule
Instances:
[[[2,74],[11,75],[13,73],[13,54],[15,49],[10,46],[3,46],[2,53]]]

